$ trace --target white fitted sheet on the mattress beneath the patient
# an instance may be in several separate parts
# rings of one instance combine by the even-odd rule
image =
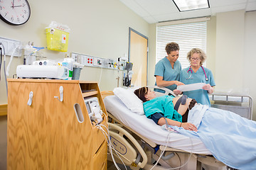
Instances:
[[[157,145],[166,146],[169,132],[163,130],[161,126],[156,125],[153,120],[146,118],[146,115],[133,113],[116,96],[105,97],[104,103],[107,111],[121,123]],[[193,147],[191,142],[193,143]],[[189,138],[176,132],[171,132],[167,146],[187,152],[191,152],[192,150],[195,154],[211,154],[201,140]]]

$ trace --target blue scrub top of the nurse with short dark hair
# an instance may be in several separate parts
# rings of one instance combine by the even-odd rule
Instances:
[[[174,69],[171,67],[171,62],[167,59],[167,57],[164,57],[161,59],[155,67],[154,76],[161,76],[163,77],[164,81],[178,81],[181,73],[181,63],[177,60],[174,62]],[[156,85],[156,83],[155,83]],[[170,90],[174,90],[177,88],[176,84],[171,86],[166,86],[166,88]]]

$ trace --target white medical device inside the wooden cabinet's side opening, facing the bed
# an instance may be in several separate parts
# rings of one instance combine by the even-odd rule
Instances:
[[[90,120],[97,120],[97,123],[102,122],[102,111],[97,97],[85,98],[85,106],[87,108]]]

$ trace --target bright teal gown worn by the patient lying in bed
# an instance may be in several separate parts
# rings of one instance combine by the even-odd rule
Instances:
[[[160,96],[143,103],[144,113],[147,118],[151,118],[154,113],[162,113],[165,118],[182,122],[182,115],[174,110],[172,96]]]

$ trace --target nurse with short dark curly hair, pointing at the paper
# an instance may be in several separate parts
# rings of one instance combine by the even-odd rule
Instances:
[[[174,91],[177,86],[183,85],[183,83],[178,81],[181,72],[178,52],[179,46],[176,42],[170,42],[166,45],[167,56],[161,59],[155,67],[156,86],[164,86]]]

